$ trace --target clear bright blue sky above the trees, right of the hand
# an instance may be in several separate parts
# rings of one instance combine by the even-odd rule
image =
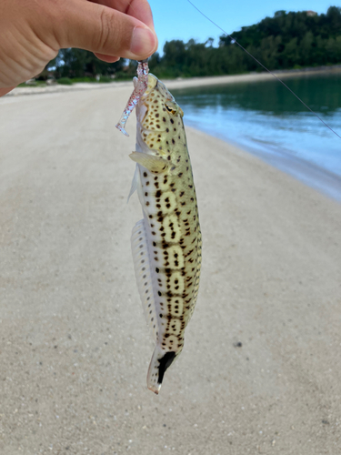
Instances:
[[[326,13],[329,6],[337,5],[336,0],[193,0],[193,3],[230,35],[242,26],[256,24],[266,16],[272,17],[279,10],[313,10],[321,14]],[[181,39],[186,42],[194,38],[204,43],[212,37],[217,45],[219,35],[223,34],[187,0],[149,0],[149,4],[153,11],[160,54],[165,41]]]

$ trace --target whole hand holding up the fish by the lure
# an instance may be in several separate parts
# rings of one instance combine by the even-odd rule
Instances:
[[[41,73],[60,48],[112,63],[157,48],[147,0],[1,0],[0,96]]]

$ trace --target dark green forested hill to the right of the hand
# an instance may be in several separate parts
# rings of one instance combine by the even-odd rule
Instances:
[[[312,11],[277,11],[256,25],[232,35],[268,69],[341,64],[341,8],[326,14]],[[165,43],[164,55],[152,56],[149,66],[156,76],[218,76],[259,71],[262,68],[226,35],[219,46],[213,40],[198,44],[174,40]]]

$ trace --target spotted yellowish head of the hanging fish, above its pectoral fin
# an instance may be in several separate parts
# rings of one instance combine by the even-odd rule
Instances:
[[[167,155],[169,145],[175,144],[180,133],[181,137],[185,135],[183,116],[175,97],[156,76],[149,74],[145,93],[136,106],[137,143],[143,151]]]

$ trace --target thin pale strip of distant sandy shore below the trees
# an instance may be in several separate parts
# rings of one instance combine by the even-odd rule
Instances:
[[[304,76],[316,76],[324,74],[340,74],[341,75],[341,65],[336,66],[319,66],[319,67],[310,67],[305,69],[291,69],[291,70],[275,70],[273,73],[281,78],[287,79],[290,77],[304,77]],[[238,83],[247,83],[247,82],[259,82],[272,80],[274,76],[267,72],[262,73],[249,73],[245,75],[227,75],[227,76],[202,76],[202,77],[189,77],[189,78],[177,78],[177,79],[163,79],[162,82],[169,89],[176,88],[188,88],[188,87],[197,87],[197,86],[221,86],[226,84],[238,84]],[[89,82],[77,82],[72,86],[63,86],[60,84],[54,84],[52,86],[44,87],[35,87],[35,86],[25,86],[25,87],[16,87],[12,92],[9,92],[3,97],[9,96],[25,96],[25,95],[41,95],[44,93],[63,93],[63,92],[73,92],[78,90],[97,90],[105,88],[124,88],[133,86],[132,81],[122,81],[122,82],[109,82],[109,83],[89,83]]]

